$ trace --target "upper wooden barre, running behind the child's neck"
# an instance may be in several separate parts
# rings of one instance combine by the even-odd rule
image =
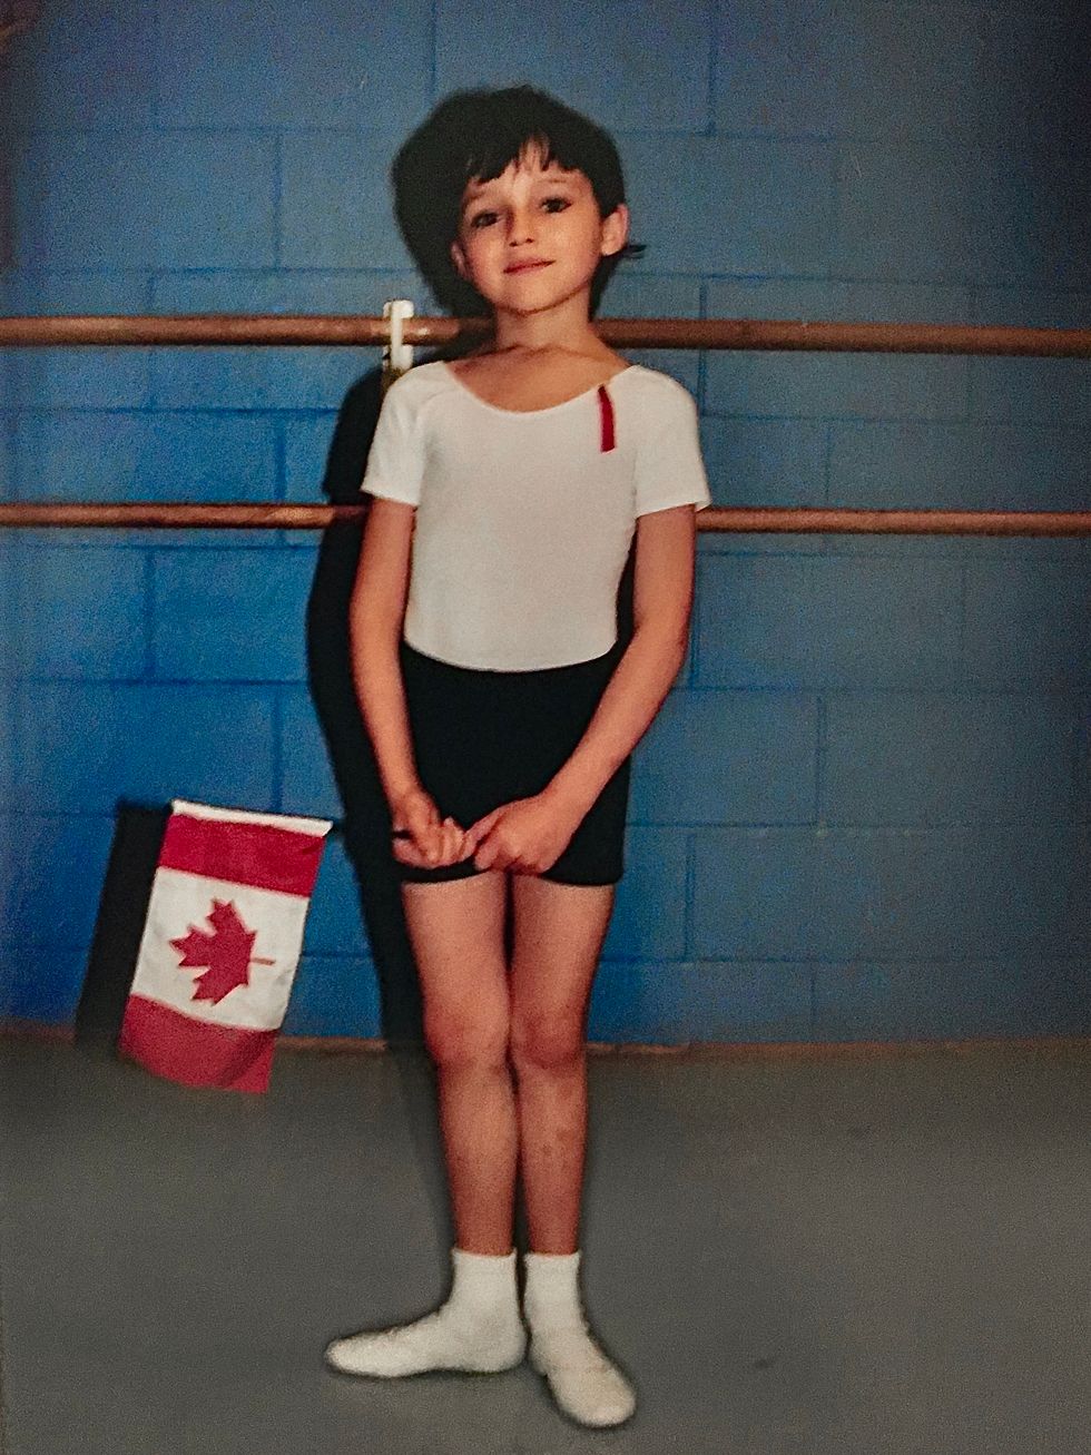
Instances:
[[[404,343],[479,339],[486,319],[415,317]],[[788,349],[850,354],[998,354],[1091,358],[1091,329],[1020,329],[963,323],[829,323],[791,319],[601,319],[615,348]],[[390,320],[353,314],[109,314],[0,319],[0,348],[125,345],[384,345]]]

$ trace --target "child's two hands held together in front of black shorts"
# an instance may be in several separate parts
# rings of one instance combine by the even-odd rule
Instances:
[[[544,790],[500,803],[464,829],[452,818],[441,818],[429,793],[413,789],[394,805],[394,831],[407,829],[412,835],[393,840],[394,858],[415,869],[473,858],[477,869],[541,874],[564,853],[582,816],[575,805]]]

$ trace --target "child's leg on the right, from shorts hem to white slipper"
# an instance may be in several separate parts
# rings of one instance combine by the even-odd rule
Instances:
[[[628,1381],[591,1337],[579,1296],[579,1205],[586,1144],[586,1007],[612,886],[513,876],[512,1062],[531,1251],[531,1362],[580,1424],[620,1424]]]

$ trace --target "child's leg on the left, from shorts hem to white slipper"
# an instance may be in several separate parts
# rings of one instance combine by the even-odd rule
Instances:
[[[522,1359],[512,1212],[516,1128],[508,1069],[505,874],[407,885],[425,1035],[439,1080],[455,1222],[454,1282],[439,1310],[397,1328],[335,1340],[345,1374],[496,1371]]]

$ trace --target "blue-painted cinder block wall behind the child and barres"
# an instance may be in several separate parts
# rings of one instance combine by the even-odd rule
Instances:
[[[448,90],[618,137],[604,313],[1091,326],[1091,26],[1062,0],[45,6],[3,61],[7,313],[378,313]],[[647,352],[717,503],[1087,509],[1091,364]],[[9,351],[6,499],[319,501],[365,349]],[[0,1016],[73,1021],[121,799],[337,816],[304,533],[7,533]],[[637,749],[604,1040],[1091,1032],[1091,554],[710,535]],[[342,844],[285,1029],[378,1033]]]

